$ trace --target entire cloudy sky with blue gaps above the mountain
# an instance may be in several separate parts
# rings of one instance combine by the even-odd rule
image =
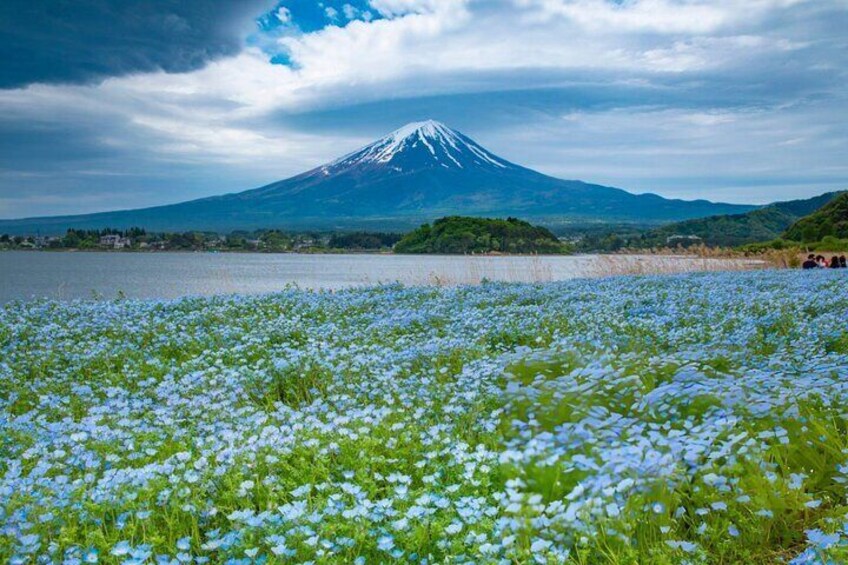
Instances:
[[[418,120],[675,198],[848,189],[848,0],[4,0],[0,218],[238,192]]]

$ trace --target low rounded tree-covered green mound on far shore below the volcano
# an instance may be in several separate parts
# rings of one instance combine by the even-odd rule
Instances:
[[[546,228],[515,218],[451,216],[424,224],[395,245],[396,253],[566,253]]]

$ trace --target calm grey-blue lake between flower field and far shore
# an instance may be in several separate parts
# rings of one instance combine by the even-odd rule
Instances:
[[[0,252],[0,303],[32,298],[177,298],[261,294],[296,284],[545,282],[579,277],[753,268],[687,256],[296,255],[256,253]]]

